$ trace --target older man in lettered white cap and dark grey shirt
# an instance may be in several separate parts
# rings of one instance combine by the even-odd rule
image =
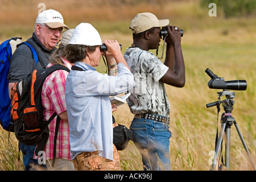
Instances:
[[[10,61],[10,71],[8,74],[9,90],[13,88],[15,82],[29,75],[34,69],[46,68],[49,58],[56,50],[56,44],[61,39],[63,28],[68,29],[64,24],[63,16],[55,10],[46,10],[38,15],[35,22],[34,33],[26,42],[35,49],[38,55],[38,62],[35,64],[35,57],[32,49],[26,44],[18,45]],[[35,146],[25,146],[19,143],[23,154],[25,170],[30,170],[30,163],[38,163],[33,159]]]

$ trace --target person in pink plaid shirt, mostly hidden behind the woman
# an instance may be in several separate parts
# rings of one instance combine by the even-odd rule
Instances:
[[[56,52],[53,53],[49,60],[48,67],[54,64],[61,64],[71,69],[72,64],[66,60],[65,46],[68,44],[74,29],[70,29],[63,34],[61,44]],[[42,104],[44,106],[44,121],[47,121],[52,114],[56,113],[60,117],[59,132],[57,135],[56,144],[56,159],[55,165],[51,166],[53,159],[53,143],[55,135],[55,126],[57,117],[53,118],[49,127],[49,138],[44,148],[46,159],[46,166],[51,170],[75,170],[70,155],[69,144],[69,125],[67,106],[65,102],[65,82],[68,72],[64,70],[57,70],[49,75],[42,86]]]

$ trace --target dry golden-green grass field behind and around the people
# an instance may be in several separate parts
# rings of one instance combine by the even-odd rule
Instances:
[[[175,171],[209,170],[210,151],[214,151],[216,107],[205,105],[217,101],[217,92],[209,89],[210,77],[205,69],[228,80],[246,80],[245,91],[236,93],[232,111],[254,163],[256,163],[256,24],[255,16],[224,19],[217,7],[217,17],[208,15],[208,7],[200,7],[199,1],[3,1],[0,0],[0,40],[11,36],[30,38],[39,10],[38,3],[56,9],[71,27],[89,22],[97,28],[102,40],[116,39],[122,44],[122,52],[132,43],[129,24],[141,12],[150,11],[159,19],[169,18],[184,30],[182,38],[186,67],[184,88],[166,85],[171,104],[170,139],[171,167]],[[113,3],[115,2],[115,6]],[[122,2],[122,3],[121,3]],[[150,3],[147,3],[150,2]],[[14,6],[15,5],[15,6]],[[57,6],[56,6],[57,5]],[[56,8],[55,8],[56,7]],[[11,14],[7,17],[7,12]],[[154,51],[153,51],[154,52]],[[162,48],[159,49],[159,56]],[[98,67],[105,72],[104,63]],[[221,100],[224,100],[222,97]],[[223,113],[221,106],[221,113]],[[133,114],[123,105],[114,113],[118,123],[130,126]],[[123,170],[142,170],[141,155],[130,142],[126,150],[119,152]],[[0,170],[22,170],[18,164],[18,142],[13,134],[0,129]],[[234,126],[231,127],[230,170],[253,170]]]

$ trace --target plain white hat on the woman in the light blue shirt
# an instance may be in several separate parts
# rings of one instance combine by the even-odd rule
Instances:
[[[68,44],[101,46],[101,36],[90,23],[80,23],[73,31]]]

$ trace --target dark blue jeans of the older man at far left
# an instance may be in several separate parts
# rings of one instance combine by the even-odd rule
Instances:
[[[19,142],[19,148],[22,151],[22,156],[23,156],[24,171],[31,170],[30,164],[32,164],[32,163],[38,164],[38,159],[33,159],[35,147],[36,147],[36,145],[26,146],[25,144]]]

